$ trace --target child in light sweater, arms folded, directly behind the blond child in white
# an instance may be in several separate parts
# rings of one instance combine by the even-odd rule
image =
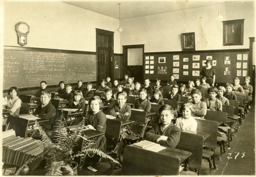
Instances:
[[[207,105],[202,99],[202,92],[198,89],[192,90],[192,107],[194,112],[192,113],[193,117],[204,118],[207,112]]]

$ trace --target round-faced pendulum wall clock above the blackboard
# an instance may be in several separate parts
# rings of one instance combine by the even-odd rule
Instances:
[[[18,35],[18,43],[21,46],[24,46],[28,43],[27,35],[29,33],[29,25],[25,22],[19,22],[15,25],[15,29]]]

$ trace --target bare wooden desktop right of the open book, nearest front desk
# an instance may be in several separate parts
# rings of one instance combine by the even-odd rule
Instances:
[[[169,147],[166,147],[166,149],[161,150],[158,153],[170,155],[172,157],[177,157],[180,159],[180,164],[182,164],[185,160],[187,160],[192,155],[191,152],[179,150],[175,148],[169,148]]]

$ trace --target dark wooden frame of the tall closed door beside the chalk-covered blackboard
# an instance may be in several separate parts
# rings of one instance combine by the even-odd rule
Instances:
[[[109,41],[111,43],[111,46],[110,48],[104,48],[104,47],[100,47],[98,46],[98,35],[99,34],[104,34],[104,35],[108,35],[110,36],[110,39],[111,41]],[[99,78],[99,59],[98,59],[98,50],[99,49],[104,49],[104,50],[109,50],[109,57],[110,57],[110,60],[108,61],[108,66],[109,66],[109,77],[110,78],[113,78],[114,76],[114,71],[113,71],[113,58],[114,58],[114,32],[113,31],[107,31],[107,30],[104,30],[104,29],[98,29],[96,28],[96,60],[97,60],[97,83],[99,84],[100,83],[100,79]]]

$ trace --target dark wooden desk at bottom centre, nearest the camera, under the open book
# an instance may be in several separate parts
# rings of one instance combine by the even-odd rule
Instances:
[[[125,146],[123,175],[177,175],[180,164],[189,160],[191,152],[166,148],[152,152],[136,146]]]

